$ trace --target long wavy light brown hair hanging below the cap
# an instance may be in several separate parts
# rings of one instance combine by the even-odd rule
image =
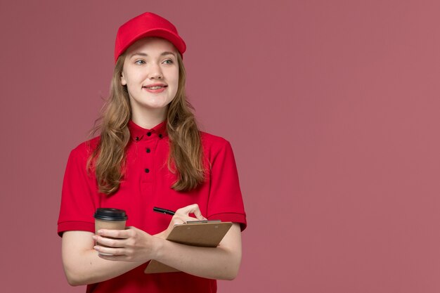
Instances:
[[[88,167],[94,170],[99,192],[115,193],[124,177],[125,150],[130,141],[128,128],[131,107],[127,86],[121,84],[125,54],[117,59],[113,71],[110,95],[105,101],[101,117],[92,133],[100,131],[100,140],[89,157]],[[186,100],[186,71],[181,55],[179,63],[179,88],[169,104],[167,133],[169,137],[168,168],[177,176],[171,186],[174,190],[187,191],[205,180],[203,150],[200,131],[193,115],[193,106]]]

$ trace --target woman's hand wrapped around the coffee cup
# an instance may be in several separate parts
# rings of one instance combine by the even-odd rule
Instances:
[[[110,261],[146,262],[154,259],[157,251],[157,237],[136,227],[127,227],[126,230],[101,229],[98,230],[98,235],[92,237],[98,242],[93,249],[103,254],[110,254],[99,254],[102,259]],[[100,244],[108,247],[103,247]]]

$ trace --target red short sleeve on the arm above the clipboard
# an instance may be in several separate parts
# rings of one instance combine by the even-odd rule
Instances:
[[[220,219],[247,226],[238,171],[231,144],[224,139],[212,146],[207,219]]]

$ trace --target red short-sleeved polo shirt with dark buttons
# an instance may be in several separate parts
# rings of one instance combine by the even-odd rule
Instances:
[[[207,219],[240,223],[246,227],[238,173],[231,145],[224,138],[201,133],[207,166],[205,182],[195,190],[178,192],[171,188],[176,175],[169,171],[169,140],[166,123],[143,129],[129,122],[131,141],[119,190],[113,195],[98,193],[96,177],[86,169],[87,159],[98,138],[72,150],[63,182],[58,234],[67,230],[94,233],[93,213],[98,207],[127,211],[127,226],[150,234],[165,230],[171,216],[153,212],[153,207],[176,210],[197,203]],[[87,286],[87,292],[216,292],[216,280],[187,273],[144,274],[146,264],[119,277]]]

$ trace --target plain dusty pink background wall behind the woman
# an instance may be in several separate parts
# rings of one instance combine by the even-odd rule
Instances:
[[[144,11],[235,151],[249,226],[219,292],[440,292],[437,0],[1,1],[1,292],[85,292],[60,262],[65,163]]]

